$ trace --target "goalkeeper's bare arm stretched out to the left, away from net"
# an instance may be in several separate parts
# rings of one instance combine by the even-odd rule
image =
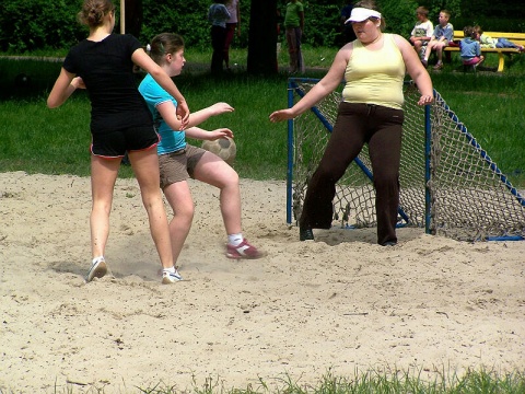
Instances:
[[[412,49],[413,51],[413,49]],[[288,109],[279,109],[270,115],[271,121],[281,121],[292,119],[305,111],[312,108],[315,104],[334,92],[341,83],[345,77],[348,60],[352,54],[352,44],[345,45],[336,55],[334,62],[326,76],[311,89],[306,95],[301,99],[293,107]]]

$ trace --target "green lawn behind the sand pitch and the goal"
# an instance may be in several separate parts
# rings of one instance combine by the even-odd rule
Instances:
[[[307,76],[323,77],[326,69],[322,67],[329,66],[336,51],[337,48],[305,47],[305,62],[312,67]],[[190,63],[201,63],[200,69],[207,70],[210,53],[187,49],[186,55]],[[511,182],[525,185],[525,139],[521,121],[525,56],[515,56],[509,61],[503,74],[472,74],[460,71],[456,55],[443,71],[431,71],[434,88]],[[235,169],[242,177],[284,179],[287,125],[270,123],[268,115],[287,106],[288,76],[285,72],[269,78],[248,76],[243,71],[246,56],[245,50],[233,49],[231,61],[232,66],[237,63],[237,70],[222,80],[191,71],[195,67],[188,66],[175,81],[192,111],[219,101],[235,107],[234,113],[211,118],[202,126],[230,127],[234,131],[238,148]],[[281,70],[287,70],[287,61],[283,49],[279,56]],[[495,55],[489,55],[487,66],[497,66]],[[77,92],[60,108],[45,106],[59,70],[59,62],[0,58],[0,171],[89,174],[90,104],[85,93]],[[20,73],[27,74],[30,83],[16,86],[14,81]],[[131,176],[129,167],[122,169],[121,176]]]

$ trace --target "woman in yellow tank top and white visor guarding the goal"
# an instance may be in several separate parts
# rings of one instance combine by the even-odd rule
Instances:
[[[349,18],[357,39],[345,45],[327,74],[292,108],[276,111],[271,121],[294,118],[313,107],[346,80],[342,102],[325,153],[308,183],[300,218],[300,240],[312,229],[329,229],[336,183],[369,144],[376,189],[377,243],[397,243],[399,162],[406,72],[421,92],[419,105],[432,103],[429,73],[412,46],[397,34],[383,33],[385,22],[371,0],[358,2]]]

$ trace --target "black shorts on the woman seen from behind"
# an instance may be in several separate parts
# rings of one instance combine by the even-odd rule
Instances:
[[[155,148],[161,140],[153,126],[128,127],[92,134],[91,153],[103,158],[122,158],[126,151]]]

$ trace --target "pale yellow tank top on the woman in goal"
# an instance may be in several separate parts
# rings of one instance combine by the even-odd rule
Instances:
[[[406,67],[392,34],[384,34],[383,48],[370,50],[359,39],[345,72],[342,100],[401,109]]]

